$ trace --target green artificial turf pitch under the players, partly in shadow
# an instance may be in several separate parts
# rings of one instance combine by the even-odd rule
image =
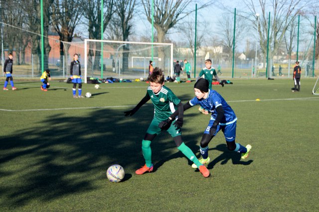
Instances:
[[[218,133],[209,178],[167,132],[151,145],[154,172],[135,174],[154,107],[150,101],[131,117],[124,111],[145,96],[145,82],[83,85],[92,98],[73,99],[72,84],[52,81],[42,92],[40,82],[16,81],[17,91],[0,92],[0,211],[318,211],[315,81],[302,79],[295,93],[293,80],[213,86],[238,117],[236,142],[252,151],[240,159]],[[165,85],[183,103],[194,96],[194,83]],[[208,121],[198,106],[184,113],[182,138],[198,157]],[[123,182],[107,180],[112,164],[124,167]]]

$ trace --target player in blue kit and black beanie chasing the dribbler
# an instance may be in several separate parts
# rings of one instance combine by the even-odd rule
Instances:
[[[202,159],[199,160],[202,164],[208,164],[208,144],[216,134],[222,130],[224,133],[227,147],[230,151],[241,153],[241,158],[246,159],[249,156],[251,145],[246,147],[235,142],[236,138],[236,122],[237,117],[234,110],[226,103],[224,98],[214,90],[209,90],[208,81],[199,79],[194,85],[195,96],[183,106],[183,109],[189,109],[192,106],[200,105],[204,109],[211,112],[210,121],[200,141],[200,154]],[[178,113],[178,110],[170,115],[169,119],[173,118]],[[197,168],[196,164],[192,165]]]

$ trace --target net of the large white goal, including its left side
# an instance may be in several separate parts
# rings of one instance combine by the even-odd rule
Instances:
[[[107,79],[146,79],[149,76],[149,62],[159,67],[165,76],[173,74],[173,44],[130,41],[91,40],[64,42],[67,66],[73,55],[79,55],[81,72],[85,83],[87,77]]]

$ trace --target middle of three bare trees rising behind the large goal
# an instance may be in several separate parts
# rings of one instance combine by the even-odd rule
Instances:
[[[127,41],[130,34],[132,34],[132,18],[135,11],[137,0],[115,0],[115,12],[121,20],[123,41]],[[129,68],[129,46],[123,46],[123,61],[122,66],[124,70]]]

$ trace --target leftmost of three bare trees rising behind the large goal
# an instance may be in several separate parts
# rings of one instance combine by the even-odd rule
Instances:
[[[113,9],[113,4],[114,0],[104,0],[104,8],[101,9],[101,0],[82,0],[82,8],[83,8],[83,15],[87,19],[87,24],[88,24],[88,32],[89,32],[89,39],[101,39],[101,10],[105,10],[104,12],[104,17],[103,17],[103,33],[105,29],[107,28],[112,15],[114,13]],[[98,68],[100,66],[100,57],[101,57],[101,52],[100,51],[94,51],[92,50],[94,47],[96,49],[99,49],[101,44],[96,43],[96,46],[93,46],[92,42],[89,43],[90,48],[88,52],[89,56],[89,66],[92,66],[92,59],[93,56],[95,56],[94,59],[94,68]]]

